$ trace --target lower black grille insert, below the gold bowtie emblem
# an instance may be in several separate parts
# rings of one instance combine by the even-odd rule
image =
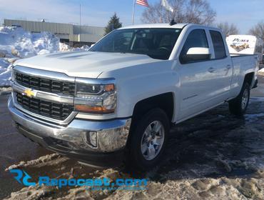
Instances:
[[[24,109],[32,113],[46,116],[52,119],[65,120],[73,111],[74,106],[70,104],[54,103],[41,99],[30,98],[16,92],[16,101]]]

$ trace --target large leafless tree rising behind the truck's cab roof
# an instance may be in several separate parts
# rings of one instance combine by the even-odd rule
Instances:
[[[173,13],[161,6],[161,1],[150,4],[143,11],[141,21],[144,23],[169,23],[173,18],[177,23],[212,24],[215,11],[206,0],[168,0],[173,7]]]

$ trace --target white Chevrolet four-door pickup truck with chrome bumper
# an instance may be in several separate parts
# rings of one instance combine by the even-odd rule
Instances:
[[[219,29],[116,29],[89,51],[16,61],[9,110],[21,134],[95,166],[160,163],[173,124],[229,103],[242,115],[256,56],[230,57]]]

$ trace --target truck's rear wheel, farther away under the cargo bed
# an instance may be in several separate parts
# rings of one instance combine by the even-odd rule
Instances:
[[[229,101],[229,111],[231,114],[235,114],[236,116],[243,116],[245,111],[248,108],[248,102],[250,98],[250,86],[247,82],[245,82],[242,86],[240,94]]]

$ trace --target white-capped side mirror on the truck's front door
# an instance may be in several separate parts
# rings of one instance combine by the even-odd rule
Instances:
[[[210,59],[209,48],[204,47],[192,47],[188,49],[186,54],[181,54],[181,62],[186,64],[193,61],[202,61]]]

